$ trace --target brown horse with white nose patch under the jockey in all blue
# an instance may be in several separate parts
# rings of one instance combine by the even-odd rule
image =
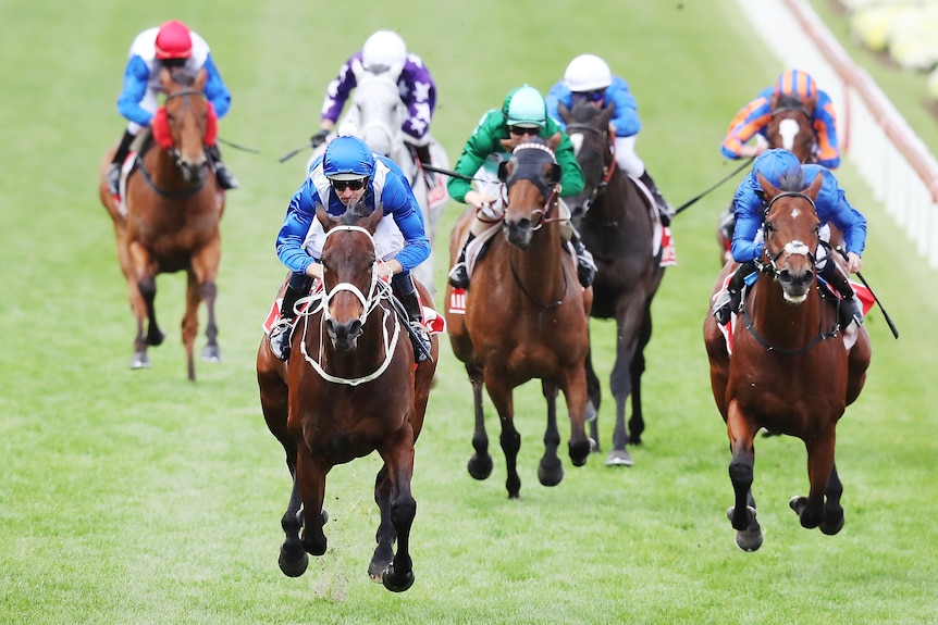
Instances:
[[[841,333],[837,309],[822,299],[815,260],[820,222],[814,201],[822,176],[801,190],[801,176],[782,178],[780,188],[760,176],[768,205],[761,273],[731,330],[731,353],[713,315],[704,322],[711,385],[727,425],[736,493],[728,515],[736,542],[746,551],[762,545],[752,496],[754,438],[761,427],[794,436],[807,450],[807,497],[790,505],[803,527],[840,532],[843,487],[834,460],[836,428],[846,408],[860,396],[872,347],[866,328]],[[834,262],[828,258],[827,262]],[[735,270],[728,263],[714,289]],[[709,311],[709,309],[708,309]]]

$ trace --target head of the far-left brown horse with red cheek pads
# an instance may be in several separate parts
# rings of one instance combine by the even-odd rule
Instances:
[[[184,67],[160,70],[166,93],[153,116],[153,138],[176,162],[187,183],[201,183],[208,172],[206,146],[214,143],[214,111],[205,98],[207,73]]]

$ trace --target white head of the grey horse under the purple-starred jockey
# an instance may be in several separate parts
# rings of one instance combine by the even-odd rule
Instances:
[[[406,110],[397,83],[386,74],[362,72],[351,99],[359,136],[372,151],[394,157],[402,145]]]

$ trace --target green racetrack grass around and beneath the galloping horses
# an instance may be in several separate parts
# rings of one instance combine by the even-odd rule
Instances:
[[[516,393],[521,499],[506,497],[491,404],[495,470],[472,480],[470,389],[444,345],[418,445],[414,587],[393,595],[366,575],[377,458],[331,474],[326,554],[298,579],[276,566],[289,484],[260,415],[254,354],[284,275],[274,236],[303,175],[301,158],[276,158],[317,127],[322,91],[346,55],[372,30],[400,27],[437,77],[434,134],[455,162],[508,89],[546,89],[570,58],[600,53],[635,90],[640,154],[680,203],[731,171],[717,151],[726,124],[779,70],[733,22],[731,2],[411,1],[349,11],[276,0],[39,0],[5,2],[2,14],[0,623],[938,622],[938,296],[926,288],[935,273],[849,167],[839,176],[871,223],[863,273],[902,338],[871,314],[873,367],[839,428],[847,525],[838,536],[802,529],[788,509],[807,487],[804,450],[788,438],[756,443],[763,548],[741,552],[725,517],[729,453],[701,324],[730,183],[675,223],[679,265],[654,305],[649,426],[634,467],[606,468],[601,454],[573,468],[565,457],[565,480],[540,486],[544,408],[531,383]],[[178,338],[181,275],[158,280],[168,340],[151,351],[153,368],[127,370],[134,324],[96,195],[100,154],[122,127],[114,99],[126,47],[169,17],[206,35],[234,92],[222,138],[262,150],[224,148],[243,185],[223,222],[224,363],[198,363],[196,384]],[[448,209],[447,228],[458,210]],[[604,382],[614,332],[594,322]]]

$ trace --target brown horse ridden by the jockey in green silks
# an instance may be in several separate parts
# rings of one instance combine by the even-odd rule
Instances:
[[[453,351],[466,365],[472,383],[476,432],[469,474],[485,479],[492,473],[489,436],[482,410],[482,386],[502,424],[499,438],[505,453],[509,498],[519,497],[521,479],[517,459],[521,435],[515,428],[513,390],[532,378],[541,379],[547,400],[547,429],[544,455],[538,478],[555,486],[564,477],[557,457],[557,392],[564,391],[570,416],[570,460],[582,466],[590,454],[584,412],[587,379],[583,370],[590,346],[588,313],[592,290],[577,282],[575,260],[564,252],[558,218],[560,166],[554,150],[559,133],[548,141],[535,138],[520,143],[506,139],[511,152],[502,163],[499,179],[507,187],[507,205],[501,234],[474,267],[472,285],[466,293],[465,314],[447,307],[446,322]],[[461,249],[473,218],[472,209],[462,214],[449,238],[451,264]],[[498,227],[498,226],[493,226]],[[453,287],[446,289],[453,302]]]

